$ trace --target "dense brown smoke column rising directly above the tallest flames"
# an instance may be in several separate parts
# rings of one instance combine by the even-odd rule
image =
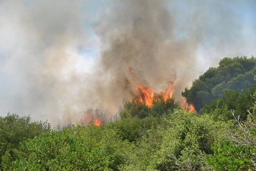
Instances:
[[[129,67],[139,78],[137,84],[158,92],[175,82],[174,96],[180,98],[195,77],[188,71],[196,66],[197,38],[189,35],[189,39],[183,39],[175,34],[174,19],[161,1],[124,1],[122,5],[125,8],[112,11],[112,20],[97,29],[108,45],[100,61],[103,84],[96,86],[102,104],[114,107],[135,94]],[[123,29],[115,29],[120,27]]]

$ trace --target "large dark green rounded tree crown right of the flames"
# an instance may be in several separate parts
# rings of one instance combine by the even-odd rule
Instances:
[[[220,60],[217,68],[209,68],[198,79],[194,80],[190,89],[185,88],[182,96],[188,103],[194,105],[197,111],[216,98],[222,98],[223,90],[238,90],[239,92],[253,84],[253,71],[256,59],[235,57]]]

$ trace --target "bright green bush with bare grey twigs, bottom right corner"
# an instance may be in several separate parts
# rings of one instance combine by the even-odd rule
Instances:
[[[215,145],[207,162],[214,170],[256,170],[256,115],[249,111],[247,120],[241,121],[232,111],[237,122],[237,129],[230,131],[227,139],[220,145]]]

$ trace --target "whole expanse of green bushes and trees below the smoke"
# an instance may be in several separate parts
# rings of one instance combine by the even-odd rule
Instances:
[[[199,114],[160,93],[150,106],[138,97],[126,101],[122,119],[101,126],[90,122],[57,131],[29,116],[1,116],[1,170],[256,170],[256,84],[253,77],[245,77],[254,73],[247,68],[254,62],[253,57],[224,58],[221,67],[237,66],[241,76],[227,72],[229,79],[210,84],[221,77],[217,67],[209,69],[214,70],[211,76],[208,70],[194,81],[183,95],[203,83],[212,91],[225,81],[221,95],[202,101]],[[238,84],[235,78],[244,78],[245,83]],[[237,83],[233,89],[226,86],[231,80]],[[192,97],[190,103],[196,104]]]

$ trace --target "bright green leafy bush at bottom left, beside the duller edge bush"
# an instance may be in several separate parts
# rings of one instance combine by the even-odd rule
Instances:
[[[52,131],[28,140],[28,157],[13,162],[11,170],[108,170],[102,149],[90,149],[73,129]]]

